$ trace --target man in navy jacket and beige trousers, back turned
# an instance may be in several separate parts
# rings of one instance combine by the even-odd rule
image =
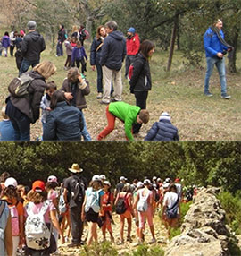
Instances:
[[[121,101],[122,80],[121,67],[126,55],[126,40],[123,34],[117,30],[117,23],[109,21],[105,24],[108,37],[104,38],[100,64],[104,74],[104,95],[102,104],[111,102],[112,79],[114,82],[114,99]]]

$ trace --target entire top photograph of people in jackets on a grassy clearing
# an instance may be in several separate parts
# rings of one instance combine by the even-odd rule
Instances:
[[[241,141],[233,2],[2,0],[0,141]]]

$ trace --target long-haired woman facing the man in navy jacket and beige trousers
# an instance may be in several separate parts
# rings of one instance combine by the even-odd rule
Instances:
[[[90,65],[92,70],[97,70],[97,97],[102,98],[103,96],[103,72],[102,66],[100,65],[101,50],[104,43],[104,38],[107,34],[104,26],[99,26],[96,32],[96,38],[94,38],[91,47],[90,47]]]

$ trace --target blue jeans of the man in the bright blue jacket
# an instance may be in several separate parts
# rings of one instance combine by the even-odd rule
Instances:
[[[226,85],[224,57],[222,59],[218,57],[206,57],[206,62],[207,62],[207,70],[206,70],[205,83],[204,83],[204,93],[209,92],[209,80],[212,75],[212,70],[215,64],[220,74],[221,95],[225,95],[227,93],[227,85]]]

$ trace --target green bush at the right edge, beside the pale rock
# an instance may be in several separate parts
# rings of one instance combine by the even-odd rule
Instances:
[[[236,195],[230,192],[221,192],[218,198],[221,207],[226,211],[226,219],[229,226],[237,234],[241,235],[241,191],[237,191]]]

